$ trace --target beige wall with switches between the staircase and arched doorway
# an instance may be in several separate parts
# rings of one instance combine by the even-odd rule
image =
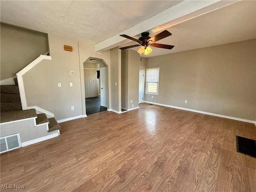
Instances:
[[[52,60],[42,61],[23,76],[27,104],[53,112],[56,120],[82,115],[78,42],[51,34],[48,37]],[[72,46],[73,52],[65,51],[64,45]]]

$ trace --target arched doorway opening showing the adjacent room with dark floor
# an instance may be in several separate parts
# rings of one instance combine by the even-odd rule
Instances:
[[[108,67],[104,60],[89,57],[84,62],[86,115],[108,109]]]

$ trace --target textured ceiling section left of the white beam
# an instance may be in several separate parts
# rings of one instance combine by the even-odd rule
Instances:
[[[96,44],[178,2],[1,0],[1,22]]]

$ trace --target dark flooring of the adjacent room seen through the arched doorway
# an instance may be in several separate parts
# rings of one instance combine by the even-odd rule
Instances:
[[[86,103],[86,115],[107,110],[106,107],[100,106],[100,96],[86,98],[85,103]]]

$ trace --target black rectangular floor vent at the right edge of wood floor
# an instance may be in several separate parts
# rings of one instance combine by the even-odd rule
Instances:
[[[256,141],[236,136],[236,150],[237,152],[256,158]]]

